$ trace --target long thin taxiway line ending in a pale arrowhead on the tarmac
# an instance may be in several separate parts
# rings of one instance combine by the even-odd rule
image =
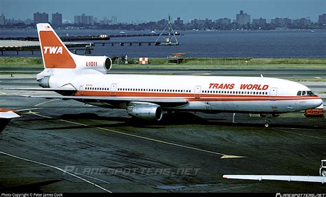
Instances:
[[[39,117],[45,117],[47,119],[52,119],[52,117],[47,117],[45,115],[41,115],[41,114],[35,113],[33,111],[30,111],[29,113],[32,114],[32,115],[37,115]],[[200,149],[200,148],[194,148],[194,147],[191,147],[191,146],[184,146],[184,145],[181,145],[181,144],[178,144],[178,143],[171,143],[171,142],[168,142],[168,141],[162,141],[162,140],[153,139],[153,138],[149,138],[149,137],[143,137],[143,136],[140,136],[140,135],[133,135],[133,134],[130,134],[130,133],[127,133],[127,132],[121,132],[121,131],[118,131],[118,130],[111,130],[109,128],[102,128],[102,127],[98,127],[98,126],[91,126],[91,125],[82,124],[82,123],[79,123],[79,122],[76,122],[76,121],[69,121],[69,120],[65,120],[65,119],[58,119],[58,120],[67,122],[69,124],[76,124],[76,125],[80,125],[80,126],[87,126],[87,127],[91,127],[91,128],[97,128],[99,130],[107,130],[109,132],[115,132],[115,133],[118,133],[118,134],[121,134],[121,135],[128,135],[128,136],[131,136],[131,137],[137,137],[137,138],[140,138],[140,139],[146,139],[146,140],[155,141],[155,142],[158,142],[158,143],[165,143],[165,144],[169,144],[171,146],[177,146],[177,147],[187,148],[187,149],[191,149],[191,150],[197,150],[197,151],[200,151],[200,152],[207,152],[207,153],[210,153],[210,154],[218,154],[218,155],[221,155],[220,159],[239,159],[239,158],[245,158],[243,156],[223,154],[223,153],[220,153],[220,152],[213,152],[213,151],[210,151],[210,150],[204,150],[204,149]]]

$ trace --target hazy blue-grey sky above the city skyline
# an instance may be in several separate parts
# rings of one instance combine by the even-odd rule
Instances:
[[[75,15],[85,13],[98,19],[117,16],[118,22],[157,21],[169,14],[176,19],[235,19],[239,10],[251,19],[263,17],[310,17],[326,13],[326,0],[0,0],[0,14],[6,19],[33,19],[34,12],[63,14],[63,19],[74,21]]]

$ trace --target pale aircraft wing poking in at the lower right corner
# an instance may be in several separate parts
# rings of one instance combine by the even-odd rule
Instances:
[[[223,178],[245,180],[274,180],[274,181],[300,181],[326,183],[326,176],[287,176],[287,175],[223,175]]]

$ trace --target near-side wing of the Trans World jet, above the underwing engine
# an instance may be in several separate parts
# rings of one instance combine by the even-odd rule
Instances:
[[[23,95],[23,97],[36,97],[45,99],[76,100],[79,102],[105,102],[108,104],[117,104],[120,102],[150,102],[160,106],[182,106],[188,104],[188,100],[182,98],[161,99],[161,98],[139,98],[139,97],[94,97],[94,96],[65,96],[65,95]]]

